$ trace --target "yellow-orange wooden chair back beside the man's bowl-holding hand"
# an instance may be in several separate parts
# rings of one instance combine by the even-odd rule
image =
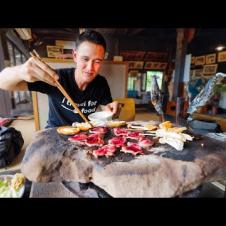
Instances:
[[[133,98],[115,98],[121,107],[119,107],[118,119],[124,121],[134,121],[136,111],[135,111],[135,101]]]

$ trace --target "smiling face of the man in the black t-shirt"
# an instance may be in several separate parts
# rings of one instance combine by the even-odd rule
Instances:
[[[76,76],[83,82],[91,82],[100,70],[104,59],[104,48],[101,45],[85,41],[73,51],[76,63]]]

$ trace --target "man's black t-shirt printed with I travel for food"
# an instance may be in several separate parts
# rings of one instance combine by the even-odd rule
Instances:
[[[103,76],[97,75],[86,89],[81,91],[75,81],[74,71],[74,68],[56,70],[59,75],[58,81],[86,117],[95,112],[100,104],[106,105],[112,102],[110,88]],[[57,87],[40,81],[28,83],[28,89],[46,93],[49,97],[49,118],[46,128],[84,122]]]

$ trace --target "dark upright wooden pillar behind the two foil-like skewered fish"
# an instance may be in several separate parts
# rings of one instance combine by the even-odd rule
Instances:
[[[187,50],[187,35],[186,29],[177,29],[177,49],[176,49],[176,60],[175,60],[175,75],[173,84],[173,100],[176,101],[177,97],[183,95],[183,76],[185,57]]]

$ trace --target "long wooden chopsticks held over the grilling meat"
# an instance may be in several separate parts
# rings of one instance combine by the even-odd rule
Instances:
[[[32,52],[30,52],[30,55],[38,61],[41,61],[42,63],[44,63],[49,69],[53,70],[46,62],[44,62],[41,57],[39,56],[39,54],[33,50]],[[52,78],[54,78],[52,76]],[[71,99],[71,97],[67,94],[67,92],[65,91],[65,89],[63,88],[63,86],[54,78],[55,82],[56,82],[56,86],[57,88],[61,91],[61,93],[64,95],[64,97],[66,97],[68,99],[68,101],[71,103],[71,105],[74,107],[74,109],[77,110],[77,112],[79,113],[79,115],[83,118],[83,120],[88,123],[91,128],[93,128],[92,124],[87,120],[87,118],[85,117],[85,115],[80,111],[80,109],[77,107],[76,103]]]

